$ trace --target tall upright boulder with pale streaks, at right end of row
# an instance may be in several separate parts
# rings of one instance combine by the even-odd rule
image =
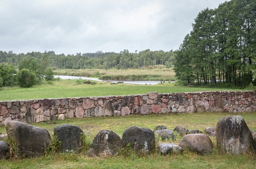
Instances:
[[[251,147],[253,136],[242,116],[225,116],[217,123],[216,140],[222,150],[240,154]]]

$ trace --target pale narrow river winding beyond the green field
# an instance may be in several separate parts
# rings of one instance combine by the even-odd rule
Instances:
[[[84,80],[94,80],[94,81],[106,81],[106,80],[99,80],[98,78],[89,78],[89,77],[81,77],[81,76],[63,76],[63,75],[54,75],[55,78],[60,77],[61,79],[84,79]],[[111,80],[111,82],[118,82],[115,80]],[[127,84],[137,84],[137,85],[156,85],[161,83],[161,81],[128,81],[125,80],[123,83]]]

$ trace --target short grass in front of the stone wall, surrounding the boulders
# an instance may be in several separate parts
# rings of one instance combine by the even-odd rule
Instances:
[[[152,114],[131,115],[102,118],[82,118],[53,122],[42,122],[34,126],[47,129],[50,134],[53,128],[60,124],[78,125],[84,132],[89,133],[92,140],[101,129],[109,129],[122,136],[124,130],[131,125],[154,129],[157,124],[174,129],[177,125],[187,129],[199,129],[201,131],[208,126],[216,126],[219,118],[236,113],[190,113],[190,114]],[[240,113],[249,128],[256,130],[256,113]],[[0,131],[6,133],[5,128]],[[216,139],[211,137],[216,145]],[[84,152],[75,154],[46,155],[39,158],[0,160],[0,166],[7,168],[255,168],[256,160],[253,153],[241,155],[225,154],[215,147],[212,155],[199,156],[185,150],[183,154],[162,156],[154,153],[150,156],[114,156],[114,157],[88,157]]]

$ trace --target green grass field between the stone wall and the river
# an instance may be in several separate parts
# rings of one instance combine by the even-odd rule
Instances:
[[[197,91],[228,91],[228,88],[196,88],[176,86],[175,83],[159,85],[110,85],[106,82],[95,82],[96,85],[79,84],[78,80],[60,80],[53,84],[33,86],[32,88],[0,88],[0,101],[28,100],[64,97],[92,97],[92,96],[120,96],[131,94],[146,94],[157,91],[158,93],[197,92]],[[241,89],[232,89],[240,91]]]

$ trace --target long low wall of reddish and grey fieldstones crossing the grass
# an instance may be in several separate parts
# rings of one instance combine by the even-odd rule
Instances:
[[[76,97],[0,102],[0,125],[65,118],[150,113],[252,112],[256,91],[206,91],[129,96]]]

